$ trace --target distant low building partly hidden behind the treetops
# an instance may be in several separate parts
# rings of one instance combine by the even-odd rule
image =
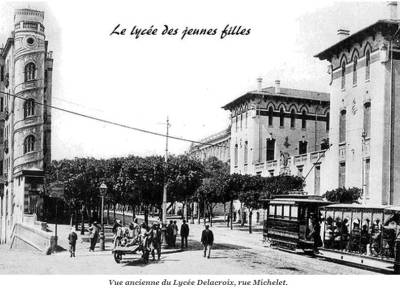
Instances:
[[[191,145],[189,154],[199,160],[206,160],[210,157],[216,157],[219,160],[229,163],[230,161],[230,140],[231,128],[210,135],[201,139],[199,142]]]

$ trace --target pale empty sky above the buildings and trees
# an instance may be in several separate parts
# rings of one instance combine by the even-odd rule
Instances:
[[[281,87],[329,92],[325,61],[313,57],[338,40],[339,28],[358,31],[388,18],[384,1],[49,1],[0,0],[0,45],[15,8],[45,11],[53,51],[53,105],[94,117],[200,140],[229,125],[221,107],[279,79]],[[136,25],[157,35],[110,35]],[[161,35],[164,25],[179,29]],[[189,28],[226,25],[249,35],[186,36]],[[120,30],[121,30],[120,29]],[[119,31],[120,31],[119,30]],[[179,154],[190,143],[170,139]],[[52,111],[52,158],[163,154],[165,138]]]

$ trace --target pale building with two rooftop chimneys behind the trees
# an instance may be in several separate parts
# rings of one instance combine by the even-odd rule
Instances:
[[[226,104],[231,112],[231,173],[307,176],[305,189],[320,194],[321,163],[329,147],[329,94],[275,86],[250,91]],[[315,167],[314,167],[315,166]],[[315,169],[313,169],[315,168]]]

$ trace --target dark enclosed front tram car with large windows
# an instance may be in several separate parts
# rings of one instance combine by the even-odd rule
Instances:
[[[331,202],[304,194],[280,195],[264,201],[264,240],[280,248],[313,251],[313,224],[321,219],[320,208]]]

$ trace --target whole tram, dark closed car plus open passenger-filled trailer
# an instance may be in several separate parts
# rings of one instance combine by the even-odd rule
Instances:
[[[263,201],[267,202],[263,236],[272,246],[312,251],[316,243],[311,232],[318,225],[318,249],[395,261],[395,240],[400,237],[399,206],[336,204],[304,194]]]

